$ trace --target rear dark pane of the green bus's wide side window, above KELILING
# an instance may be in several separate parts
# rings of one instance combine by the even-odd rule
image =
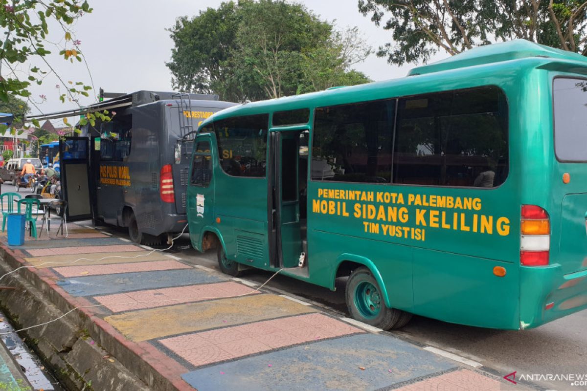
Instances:
[[[498,87],[398,101],[393,182],[493,188],[508,173],[507,103]]]

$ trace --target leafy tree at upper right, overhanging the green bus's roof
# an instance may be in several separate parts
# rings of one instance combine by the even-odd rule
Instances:
[[[392,30],[394,43],[380,46],[377,56],[397,65],[516,38],[587,55],[586,6],[576,0],[359,0],[363,15]]]

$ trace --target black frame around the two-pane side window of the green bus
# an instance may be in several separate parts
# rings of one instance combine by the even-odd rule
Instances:
[[[424,95],[429,95],[429,94],[437,94],[437,93],[447,93],[447,92],[451,92],[451,91],[461,91],[461,90],[472,90],[472,89],[478,89],[478,88],[483,88],[483,87],[496,87],[497,89],[499,89],[501,91],[501,93],[503,94],[504,98],[505,98],[505,104],[506,104],[506,113],[505,113],[505,119],[506,119],[506,129],[507,129],[507,141],[508,141],[508,175],[505,177],[504,181],[498,185],[498,186],[494,186],[492,188],[483,188],[483,187],[475,187],[475,186],[446,186],[446,185],[417,185],[417,184],[412,184],[412,183],[395,183],[393,182],[393,162],[394,162],[394,149],[395,149],[395,139],[396,139],[396,125],[397,125],[397,105],[399,103],[400,99],[405,99],[405,98],[412,98],[412,97],[419,97],[419,96],[424,96]],[[311,163],[311,159],[313,158],[313,143],[314,143],[314,132],[315,132],[315,121],[316,121],[316,110],[319,108],[326,108],[326,107],[336,107],[336,106],[347,106],[350,104],[360,104],[360,103],[369,103],[369,102],[376,102],[376,101],[385,101],[385,100],[395,100],[396,101],[396,112],[394,113],[394,118],[393,118],[393,141],[392,141],[392,175],[390,177],[390,182],[343,182],[343,181],[319,181],[316,179],[312,178],[312,175],[309,175],[309,182],[315,182],[315,183],[348,183],[348,184],[353,184],[353,185],[373,185],[373,186],[409,186],[409,187],[418,187],[418,188],[440,188],[440,189],[475,189],[475,190],[482,190],[482,191],[492,191],[495,189],[499,189],[501,188],[501,186],[505,185],[505,183],[507,183],[508,179],[510,178],[510,155],[511,155],[511,134],[510,134],[510,98],[508,97],[507,93],[505,93],[505,90],[502,89],[501,86],[498,86],[497,84],[483,84],[483,85],[477,85],[477,86],[471,86],[471,87],[463,87],[460,89],[448,89],[448,90],[440,90],[440,91],[429,91],[426,93],[421,93],[421,94],[413,94],[413,95],[403,95],[403,96],[395,96],[395,97],[387,97],[387,98],[381,98],[381,99],[372,99],[372,100],[360,100],[360,101],[353,101],[353,102],[347,102],[347,103],[340,103],[340,104],[331,104],[329,106],[315,106],[313,108],[313,111],[311,113],[311,118],[310,118],[310,123],[311,125],[311,130],[312,130],[312,137],[310,140],[310,145],[309,145],[309,159],[310,159],[310,163]],[[308,172],[311,172],[311,165],[309,166]]]

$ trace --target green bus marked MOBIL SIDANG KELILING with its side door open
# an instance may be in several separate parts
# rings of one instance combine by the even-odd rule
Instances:
[[[587,59],[525,40],[227,108],[197,135],[191,243],[232,276],[348,276],[382,329],[534,328],[587,308],[586,127]]]

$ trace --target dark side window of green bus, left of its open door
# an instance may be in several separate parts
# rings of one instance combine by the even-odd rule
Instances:
[[[232,176],[265,177],[268,114],[227,118],[214,123],[218,161]]]

